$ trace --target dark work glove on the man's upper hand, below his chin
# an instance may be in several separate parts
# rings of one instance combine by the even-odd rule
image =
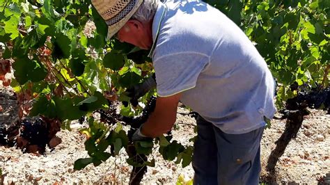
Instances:
[[[126,95],[131,98],[131,104],[137,106],[139,97],[146,95],[146,93],[148,93],[150,89],[155,88],[156,85],[155,75],[152,75],[152,77],[148,77],[148,79],[145,79],[142,83],[127,88]]]

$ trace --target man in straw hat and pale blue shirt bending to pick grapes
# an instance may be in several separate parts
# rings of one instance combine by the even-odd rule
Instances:
[[[121,42],[151,49],[156,108],[134,138],[171,130],[180,101],[200,115],[194,184],[258,184],[264,118],[276,111],[274,81],[239,27],[200,1],[92,3],[109,26],[108,38],[116,34]],[[148,79],[142,86],[150,84]]]

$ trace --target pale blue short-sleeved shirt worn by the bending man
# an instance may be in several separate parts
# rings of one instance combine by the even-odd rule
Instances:
[[[201,1],[168,1],[152,24],[157,93],[180,101],[227,134],[272,118],[274,79],[244,32]]]

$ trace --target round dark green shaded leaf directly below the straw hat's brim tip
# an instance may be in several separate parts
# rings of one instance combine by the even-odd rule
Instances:
[[[124,66],[125,58],[123,54],[107,53],[103,58],[104,67],[108,67],[111,70],[120,70]]]

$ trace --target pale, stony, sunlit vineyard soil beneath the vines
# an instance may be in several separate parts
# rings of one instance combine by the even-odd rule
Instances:
[[[194,118],[187,115],[184,108],[178,110],[178,129],[173,131],[174,138],[184,145],[189,145],[189,138],[194,134]],[[262,173],[265,175],[267,157],[274,148],[285,126],[285,120],[273,120],[272,127],[265,130],[262,138]],[[127,184],[129,166],[127,156],[121,151],[120,156],[111,158],[100,166],[87,166],[84,170],[73,170],[74,161],[86,157],[84,135],[79,134],[78,123],[72,124],[72,131],[63,130],[57,135],[63,143],[55,150],[47,150],[45,155],[23,154],[15,148],[0,147],[0,168],[4,184]],[[312,111],[306,117],[295,140],[288,145],[276,166],[277,183],[295,182],[299,184],[317,184],[317,179],[330,172],[330,115],[323,111]],[[205,156],[207,157],[207,156]],[[156,160],[154,168],[148,168],[143,184],[175,184],[178,176],[183,175],[188,181],[193,178],[191,166],[182,168],[172,161],[164,161],[157,152],[152,154]],[[0,183],[1,184],[1,183]]]

